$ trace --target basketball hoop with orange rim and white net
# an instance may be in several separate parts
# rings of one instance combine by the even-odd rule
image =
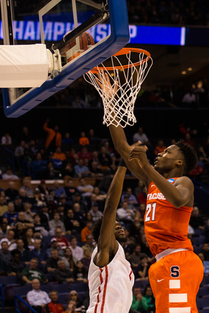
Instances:
[[[149,64],[148,61],[150,61]],[[84,79],[95,86],[102,97],[103,124],[126,127],[137,122],[134,116],[134,103],[141,89],[141,83],[146,79],[152,65],[153,60],[148,51],[123,48],[109,60],[84,74]],[[111,87],[104,73],[108,74]],[[98,82],[105,86],[105,93]]]

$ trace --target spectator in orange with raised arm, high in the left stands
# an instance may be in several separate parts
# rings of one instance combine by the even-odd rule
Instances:
[[[55,147],[61,147],[62,135],[59,132],[59,127],[56,125],[54,129],[51,129],[48,126],[49,118],[47,118],[43,129],[47,132],[47,140],[45,142],[45,147],[50,151],[54,151]]]

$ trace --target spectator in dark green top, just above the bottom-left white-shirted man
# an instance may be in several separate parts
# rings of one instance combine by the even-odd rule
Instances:
[[[24,268],[24,270],[21,273],[22,276],[22,283],[28,283],[31,284],[34,278],[37,278],[40,284],[47,283],[48,280],[45,277],[44,273],[42,271],[39,271],[37,269],[38,266],[38,259],[33,258],[30,262],[30,267]]]

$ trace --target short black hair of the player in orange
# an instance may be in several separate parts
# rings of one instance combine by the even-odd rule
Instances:
[[[198,161],[196,151],[194,150],[191,145],[184,143],[183,140],[178,141],[175,143],[177,147],[179,147],[181,154],[185,160],[184,172],[183,174],[187,174],[188,172],[192,172],[194,168],[196,168],[196,164]]]

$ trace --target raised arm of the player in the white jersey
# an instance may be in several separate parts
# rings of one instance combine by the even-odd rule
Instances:
[[[109,264],[109,255],[111,253],[116,254],[118,250],[118,244],[115,237],[116,210],[121,199],[125,172],[125,167],[118,166],[116,175],[114,175],[114,179],[112,180],[107,193],[100,236],[98,239],[98,253],[94,259],[95,264],[100,267]]]

